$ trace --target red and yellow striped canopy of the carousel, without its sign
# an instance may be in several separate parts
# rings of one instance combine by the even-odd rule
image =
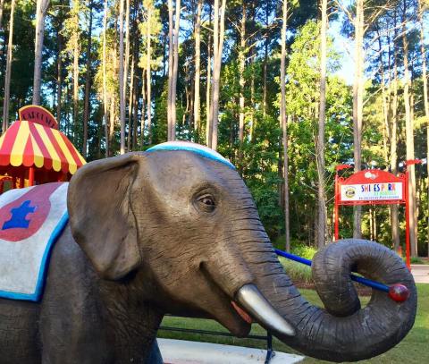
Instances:
[[[39,123],[17,121],[0,138],[0,165],[35,165],[74,174],[85,163],[61,131]]]

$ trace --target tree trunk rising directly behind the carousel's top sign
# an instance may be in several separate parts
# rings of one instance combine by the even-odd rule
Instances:
[[[49,0],[37,0],[36,43],[34,47],[33,105],[40,105],[43,37],[45,34],[45,15],[48,5]]]

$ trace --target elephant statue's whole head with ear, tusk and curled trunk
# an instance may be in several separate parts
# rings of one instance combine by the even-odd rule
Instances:
[[[310,305],[284,272],[240,175],[210,149],[169,143],[89,163],[72,178],[68,204],[73,237],[97,273],[162,313],[213,317],[239,336],[252,317],[304,354],[334,361],[387,351],[413,325],[412,276],[370,241],[318,252],[313,275],[325,309]],[[373,292],[360,308],[351,269],[407,285],[408,301]]]

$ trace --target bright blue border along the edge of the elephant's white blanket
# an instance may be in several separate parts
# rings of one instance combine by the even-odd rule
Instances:
[[[69,214],[66,212],[61,220],[56,225],[54,232],[51,234],[49,241],[47,242],[45,253],[43,254],[40,270],[38,271],[38,284],[36,284],[36,290],[34,293],[16,293],[16,292],[6,292],[0,291],[0,298],[6,298],[11,300],[21,300],[21,301],[33,301],[38,302],[42,296],[42,293],[45,289],[46,283],[46,274],[49,266],[49,259],[51,258],[52,248],[61,235],[67,223],[69,222]]]

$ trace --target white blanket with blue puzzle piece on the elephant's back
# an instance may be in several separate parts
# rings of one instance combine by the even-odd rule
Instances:
[[[39,301],[49,255],[67,224],[68,183],[0,195],[0,297]]]

